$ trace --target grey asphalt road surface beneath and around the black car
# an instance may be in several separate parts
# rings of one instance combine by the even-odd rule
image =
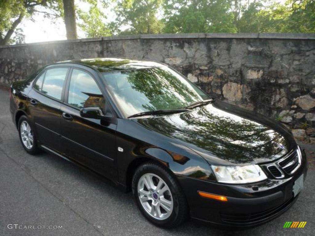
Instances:
[[[314,235],[314,180],[311,165],[295,205],[256,228],[227,231],[192,220],[171,230],[157,228],[140,214],[131,194],[111,182],[51,154],[28,155],[10,117],[9,93],[0,87],[0,236]],[[307,223],[305,228],[284,229],[286,221]],[[35,229],[8,229],[8,224]],[[49,225],[62,229],[47,229]]]

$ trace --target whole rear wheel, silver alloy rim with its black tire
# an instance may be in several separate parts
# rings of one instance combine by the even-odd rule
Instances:
[[[25,115],[20,117],[18,129],[23,148],[30,154],[37,153],[37,139],[34,135],[32,127],[30,126],[30,122]]]

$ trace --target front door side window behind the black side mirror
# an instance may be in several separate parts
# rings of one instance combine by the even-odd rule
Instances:
[[[73,69],[69,85],[68,104],[78,108],[97,106],[103,110],[105,100],[92,76],[82,70]]]

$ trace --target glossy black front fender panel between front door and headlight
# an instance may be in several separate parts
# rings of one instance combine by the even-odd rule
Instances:
[[[134,171],[150,160],[161,163],[175,175],[215,181],[208,162],[175,138],[150,131],[129,119],[117,119],[116,134],[118,182],[123,185],[131,182],[130,169]]]

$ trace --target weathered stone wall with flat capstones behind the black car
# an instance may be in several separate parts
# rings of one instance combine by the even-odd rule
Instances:
[[[133,35],[4,46],[0,82],[94,57],[166,63],[211,96],[282,121],[315,143],[315,34]]]

